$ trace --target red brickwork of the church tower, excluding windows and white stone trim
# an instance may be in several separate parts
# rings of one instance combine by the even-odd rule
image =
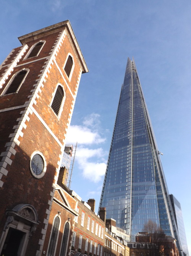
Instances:
[[[24,83],[19,89],[18,93],[0,96],[0,109],[13,108],[16,106],[21,106],[29,101],[29,95],[32,94],[31,90],[34,89],[34,84],[37,84],[46,66],[47,59],[45,57],[50,55],[50,51],[55,47],[55,41],[57,41],[60,31],[52,33],[51,35],[44,35],[39,38],[31,38],[28,43],[28,50],[20,59],[18,65],[11,72],[11,75],[3,84],[0,93],[5,88],[8,81],[10,81],[13,74],[23,68],[28,68],[29,73],[26,76]],[[24,56],[28,53],[30,47],[39,40],[46,40],[46,43],[39,56],[29,59],[24,59]],[[14,59],[14,56],[21,50],[22,47],[16,48],[13,51],[4,64],[9,64],[10,61]],[[63,65],[65,63],[66,57],[70,52],[74,57],[74,71],[71,81],[68,80],[65,72],[63,71]],[[44,58],[44,59],[41,59]],[[38,61],[36,61],[38,59]],[[43,87],[41,86],[41,92],[38,92],[36,97],[36,105],[33,104],[32,107],[37,111],[37,114],[42,118],[49,129],[55,134],[57,139],[61,144],[63,144],[63,139],[65,139],[65,132],[70,123],[69,115],[71,114],[72,105],[74,98],[71,96],[70,90],[73,95],[76,95],[76,84],[78,83],[79,76],[81,75],[81,67],[74,53],[73,46],[71,46],[70,41],[67,36],[63,40],[60,50],[55,56],[56,62],[62,71],[63,76],[60,74],[56,64],[52,61],[49,67],[49,72],[45,76],[43,81]],[[19,66],[20,65],[20,66]],[[4,74],[7,67],[2,68],[2,74]],[[68,84],[66,84],[65,83]],[[58,83],[61,83],[65,89],[66,99],[60,119],[54,114],[52,108],[49,106],[52,100],[53,92]],[[69,90],[70,88],[70,90]],[[29,101],[30,102],[30,101]],[[10,142],[10,134],[15,132],[14,126],[18,125],[18,118],[22,118],[24,109],[19,108],[15,110],[5,111],[1,113],[0,119],[0,132],[1,132],[1,152],[6,151],[5,144]],[[37,116],[28,113],[29,121],[25,121],[26,129],[22,129],[23,137],[19,136],[19,145],[15,146],[16,154],[10,155],[10,159],[13,160],[11,165],[6,166],[8,171],[7,175],[2,177],[4,182],[3,187],[0,190],[0,234],[2,233],[2,228],[5,224],[6,209],[12,209],[19,203],[31,204],[37,211],[39,218],[39,225],[35,235],[29,239],[28,248],[26,255],[34,256],[36,250],[39,249],[38,243],[39,239],[42,239],[42,234],[40,234],[42,228],[45,228],[44,218],[47,218],[46,209],[49,208],[48,201],[52,200],[50,192],[53,191],[52,183],[55,183],[56,169],[59,167],[58,161],[60,161],[59,155],[62,154],[61,147],[58,142],[50,134],[49,130],[40,122]],[[13,137],[12,137],[13,139]],[[47,161],[47,170],[44,177],[36,179],[31,175],[29,169],[29,161],[32,152],[39,150],[44,154]],[[2,158],[0,159],[2,160]],[[55,208],[54,211],[57,209]]]

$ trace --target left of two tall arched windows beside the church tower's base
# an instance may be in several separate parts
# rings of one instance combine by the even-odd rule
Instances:
[[[59,225],[60,225],[60,219],[58,216],[54,219],[54,223],[52,226],[52,233],[50,236],[50,243],[49,243],[49,249],[47,256],[54,256],[55,249],[57,246],[57,237],[58,237],[58,231],[59,231]]]

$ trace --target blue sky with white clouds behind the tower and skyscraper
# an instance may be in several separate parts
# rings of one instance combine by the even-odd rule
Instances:
[[[90,71],[81,77],[68,135],[78,141],[71,189],[84,201],[95,198],[97,211],[126,61],[134,56],[191,254],[191,2],[2,0],[0,62],[20,46],[18,36],[63,20],[70,20]]]

